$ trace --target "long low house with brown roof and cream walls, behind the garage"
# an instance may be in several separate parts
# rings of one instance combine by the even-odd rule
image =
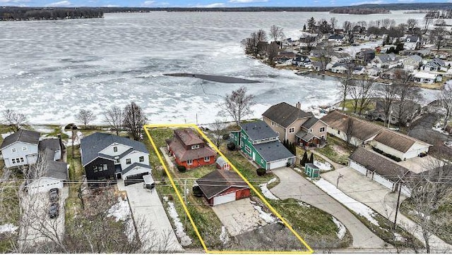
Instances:
[[[347,116],[339,111],[332,111],[321,118],[328,124],[328,133],[339,137],[350,144],[359,146],[370,144],[386,154],[401,160],[414,158],[422,152],[427,152],[431,144],[389,130],[381,125],[375,125],[365,120]],[[347,139],[348,138],[348,139]]]

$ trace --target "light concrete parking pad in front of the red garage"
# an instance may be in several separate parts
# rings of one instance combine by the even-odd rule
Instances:
[[[246,198],[212,206],[212,209],[220,218],[221,223],[225,225],[227,232],[236,236],[254,230],[258,226],[267,225],[253,206],[251,200]]]

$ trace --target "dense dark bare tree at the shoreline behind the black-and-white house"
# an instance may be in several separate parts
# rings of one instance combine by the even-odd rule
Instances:
[[[129,135],[136,141],[142,139],[143,125],[145,125],[148,118],[146,118],[143,109],[131,102],[124,108],[124,128],[129,132]]]

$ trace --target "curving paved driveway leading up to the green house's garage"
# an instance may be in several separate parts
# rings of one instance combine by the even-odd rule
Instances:
[[[272,172],[280,178],[280,184],[270,189],[277,197],[298,199],[330,213],[350,231],[354,248],[383,248],[383,240],[374,235],[342,204],[328,196],[319,187],[302,178],[291,168],[278,168]]]

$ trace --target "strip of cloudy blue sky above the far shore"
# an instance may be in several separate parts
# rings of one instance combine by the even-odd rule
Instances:
[[[452,0],[448,0],[451,2]],[[128,6],[128,7],[245,7],[245,6],[350,6],[413,3],[415,0],[0,0],[0,6]],[[424,0],[416,2],[439,2]]]

